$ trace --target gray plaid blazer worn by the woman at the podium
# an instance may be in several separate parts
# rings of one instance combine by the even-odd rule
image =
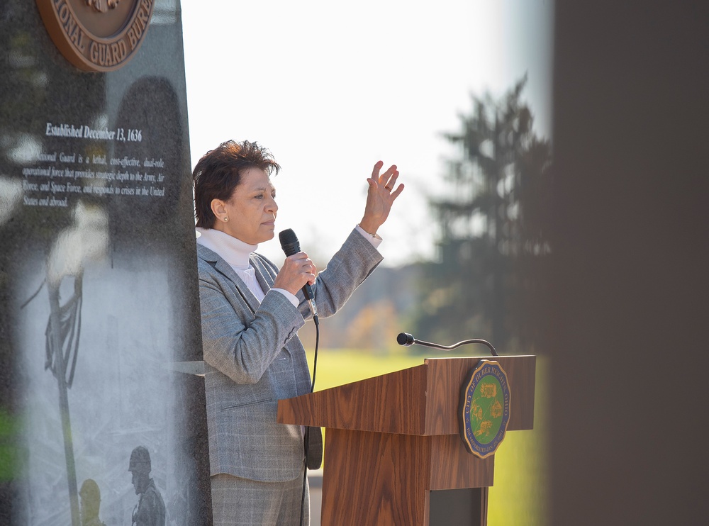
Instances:
[[[381,259],[353,230],[313,285],[318,316],[342,307]],[[221,257],[197,245],[209,464],[212,475],[286,481],[301,474],[303,437],[300,426],[276,423],[277,406],[311,390],[296,335],[311,312],[302,291],[295,308],[270,290],[278,273],[272,262],[251,254],[251,264],[266,293],[260,305]]]

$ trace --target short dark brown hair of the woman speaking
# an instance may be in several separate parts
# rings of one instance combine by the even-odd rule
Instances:
[[[212,212],[213,199],[229,201],[241,182],[241,174],[250,168],[259,168],[269,176],[278,174],[280,165],[273,155],[256,142],[222,142],[209,150],[194,167],[194,217],[199,228],[213,228],[216,218]]]

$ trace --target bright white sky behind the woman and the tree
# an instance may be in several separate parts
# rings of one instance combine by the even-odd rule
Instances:
[[[182,0],[192,167],[228,139],[269,148],[277,232],[327,261],[362,218],[374,163],[396,164],[406,189],[379,230],[384,264],[434,257],[440,133],[470,94],[499,96],[527,72],[549,136],[552,16],[552,0]],[[259,252],[283,259],[278,236]]]

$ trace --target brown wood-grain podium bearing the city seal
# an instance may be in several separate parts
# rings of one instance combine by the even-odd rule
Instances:
[[[323,526],[486,525],[495,457],[467,451],[457,416],[462,383],[481,359],[506,371],[507,430],[532,429],[535,356],[430,358],[279,401],[279,423],[326,428]]]

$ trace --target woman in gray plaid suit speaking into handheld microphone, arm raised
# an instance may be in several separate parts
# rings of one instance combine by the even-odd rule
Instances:
[[[381,262],[376,231],[403,191],[398,171],[377,162],[364,215],[328,267],[318,273],[305,252],[281,269],[256,253],[271,240],[279,164],[255,142],[223,142],[196,167],[197,269],[212,508],[215,526],[298,525],[306,459],[298,425],[276,422],[278,401],[311,391],[296,332],[311,309],[333,315]],[[318,429],[319,431],[319,429]],[[306,488],[307,491],[307,488]],[[308,498],[303,509],[309,524]]]

